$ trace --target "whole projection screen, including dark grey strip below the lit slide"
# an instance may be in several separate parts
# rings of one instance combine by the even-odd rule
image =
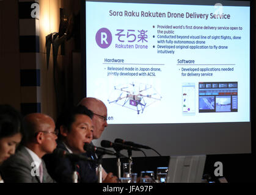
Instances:
[[[95,146],[122,138],[161,155],[251,152],[250,6],[85,1],[86,96],[108,108]]]

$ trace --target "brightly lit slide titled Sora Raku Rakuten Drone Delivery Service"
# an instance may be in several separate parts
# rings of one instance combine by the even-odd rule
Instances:
[[[243,4],[87,1],[87,96],[108,124],[249,122],[249,18]]]

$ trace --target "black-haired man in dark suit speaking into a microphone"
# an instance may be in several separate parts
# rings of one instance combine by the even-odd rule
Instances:
[[[92,141],[92,116],[93,113],[84,106],[73,107],[65,110],[56,122],[59,129],[57,149],[64,150],[68,154],[84,155],[91,157],[84,151],[84,144]],[[47,169],[51,177],[57,182],[95,183],[96,162],[71,161],[69,158],[59,157],[56,152],[44,157]],[[78,179],[75,180],[74,177]],[[110,174],[105,182],[116,182],[117,178]]]

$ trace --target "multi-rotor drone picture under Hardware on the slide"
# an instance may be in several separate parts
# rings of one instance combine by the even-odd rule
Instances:
[[[135,110],[139,115],[140,112],[144,112],[145,107],[148,107],[156,101],[161,101],[161,99],[162,97],[152,85],[128,83],[114,86],[114,90],[109,96],[108,102],[109,104],[115,103],[122,107]]]

